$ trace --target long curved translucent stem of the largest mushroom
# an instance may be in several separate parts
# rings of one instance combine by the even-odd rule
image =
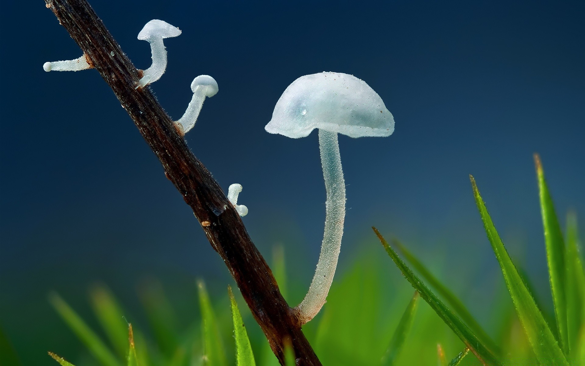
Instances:
[[[337,133],[319,129],[319,149],[327,191],[325,233],[309,291],[300,305],[294,308],[301,324],[313,319],[326,302],[337,267],[345,219],[345,180],[339,157]]]

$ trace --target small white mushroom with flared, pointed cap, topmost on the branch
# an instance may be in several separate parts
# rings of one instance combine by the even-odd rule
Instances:
[[[143,88],[147,84],[154,83],[154,81],[163,76],[164,70],[167,69],[167,50],[164,47],[163,39],[176,37],[180,34],[180,29],[159,19],[150,20],[140,30],[138,39],[146,40],[150,43],[152,66],[143,71],[137,88]]]

